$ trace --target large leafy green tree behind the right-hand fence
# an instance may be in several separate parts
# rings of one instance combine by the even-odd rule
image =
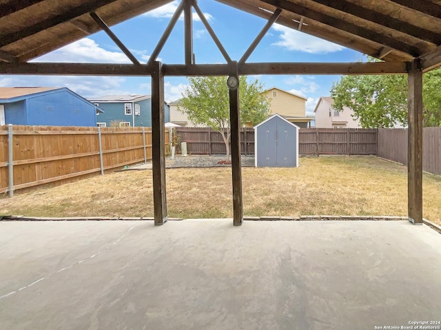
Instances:
[[[369,61],[374,61],[369,59]],[[441,68],[423,75],[423,125],[441,125]],[[331,87],[334,108],[353,110],[364,128],[407,126],[407,76],[342,76]]]

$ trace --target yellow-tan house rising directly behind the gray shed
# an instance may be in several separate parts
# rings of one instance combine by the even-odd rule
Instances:
[[[262,93],[270,102],[269,115],[277,113],[300,128],[311,126],[311,120],[314,118],[306,115],[307,98],[277,87],[272,87]]]

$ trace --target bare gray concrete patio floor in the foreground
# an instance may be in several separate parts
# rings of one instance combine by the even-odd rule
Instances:
[[[407,221],[0,222],[0,247],[0,329],[441,319],[441,235]]]

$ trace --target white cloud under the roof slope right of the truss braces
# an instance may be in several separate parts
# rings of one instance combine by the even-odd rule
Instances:
[[[273,43],[273,45],[284,47],[287,50],[310,54],[327,54],[345,49],[343,46],[287,28],[280,24],[274,24],[273,28],[280,32],[280,41]]]

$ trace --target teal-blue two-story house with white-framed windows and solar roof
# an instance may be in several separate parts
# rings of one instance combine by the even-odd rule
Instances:
[[[98,126],[152,126],[150,95],[106,95],[88,100],[104,110],[97,116]],[[165,122],[170,122],[170,107],[164,103]]]

